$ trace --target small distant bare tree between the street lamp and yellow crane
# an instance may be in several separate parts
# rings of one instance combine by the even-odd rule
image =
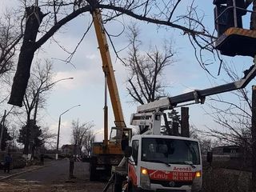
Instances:
[[[85,143],[89,143],[90,139],[93,139],[91,128],[94,127],[92,122],[82,123],[80,125],[79,120],[72,122],[72,143],[74,144],[74,154],[81,154],[82,146]],[[87,149],[86,149],[87,150]]]

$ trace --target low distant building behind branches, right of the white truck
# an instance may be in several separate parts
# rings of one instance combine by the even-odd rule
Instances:
[[[213,154],[230,155],[230,158],[242,156],[241,146],[217,146],[212,149]]]

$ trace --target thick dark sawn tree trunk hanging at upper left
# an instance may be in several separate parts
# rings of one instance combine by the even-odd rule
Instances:
[[[42,14],[38,6],[26,7],[26,29],[8,102],[14,106],[22,106],[22,100],[30,78],[31,62],[34,58],[34,52],[38,48],[35,42],[38,28],[43,17],[44,14]]]

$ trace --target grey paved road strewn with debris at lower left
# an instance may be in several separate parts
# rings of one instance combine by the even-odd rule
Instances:
[[[74,176],[76,178],[70,180],[68,179],[69,162],[66,160],[53,162],[41,169],[0,182],[0,191],[101,192],[105,183],[90,182],[88,166],[85,162],[75,162]]]

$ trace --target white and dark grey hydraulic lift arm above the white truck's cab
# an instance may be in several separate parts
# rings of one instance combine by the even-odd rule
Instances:
[[[131,115],[130,124],[133,126],[146,126],[147,129],[143,134],[158,135],[161,129],[161,115],[164,110],[170,110],[181,103],[185,103],[183,106],[193,103],[204,103],[206,96],[242,89],[246,87],[255,76],[256,66],[253,65],[249,70],[245,71],[245,76],[236,82],[227,83],[222,86],[214,86],[206,90],[194,90],[170,98],[161,98],[157,101],[138,106],[137,113]],[[187,103],[191,101],[194,102]]]

